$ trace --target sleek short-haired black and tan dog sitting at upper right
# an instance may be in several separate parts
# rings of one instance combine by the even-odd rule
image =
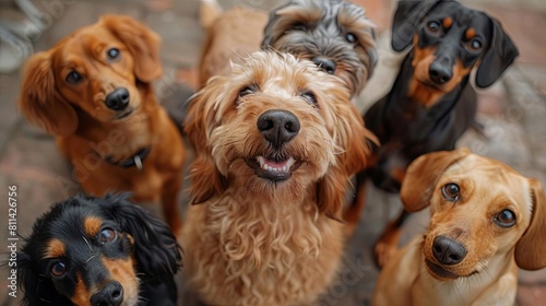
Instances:
[[[399,1],[392,48],[413,45],[390,93],[365,115],[366,128],[380,141],[357,177],[357,197],[345,212],[349,228],[365,205],[365,183],[399,192],[408,164],[422,154],[453,150],[475,121],[476,93],[488,87],[519,55],[499,22],[455,1]],[[403,212],[387,226],[375,247],[383,266],[396,249]]]

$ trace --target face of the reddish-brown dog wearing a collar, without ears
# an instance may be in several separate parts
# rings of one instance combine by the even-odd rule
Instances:
[[[141,104],[135,59],[107,27],[86,27],[52,51],[59,94],[102,122],[129,117]]]

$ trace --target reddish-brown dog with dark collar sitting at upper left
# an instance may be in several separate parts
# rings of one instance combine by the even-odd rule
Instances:
[[[121,15],[104,15],[26,64],[19,105],[26,118],[58,136],[74,176],[95,196],[132,191],[163,202],[176,233],[185,148],[156,102],[159,37]]]

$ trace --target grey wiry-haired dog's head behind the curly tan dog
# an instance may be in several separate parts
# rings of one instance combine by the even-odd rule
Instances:
[[[310,59],[344,80],[353,95],[377,61],[373,24],[365,10],[342,0],[292,0],[270,14],[262,48]]]

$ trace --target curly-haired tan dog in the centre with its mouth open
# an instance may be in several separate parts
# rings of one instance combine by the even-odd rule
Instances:
[[[198,158],[182,245],[214,305],[300,305],[341,264],[341,210],[372,137],[342,81],[288,54],[254,52],[190,102]]]

